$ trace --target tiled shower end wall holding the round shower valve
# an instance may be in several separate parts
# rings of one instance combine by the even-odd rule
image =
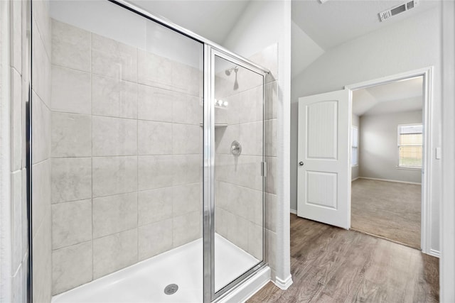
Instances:
[[[252,60],[276,72],[273,62],[277,60],[277,45],[266,48]],[[267,76],[263,107],[260,77],[258,82],[258,76],[240,68],[237,73],[239,89],[234,90],[234,77],[225,77],[223,74],[224,71],[215,77],[215,98],[228,101],[229,104],[226,109],[215,109],[215,125],[223,124],[215,128],[215,228],[221,236],[262,260],[262,227],[265,224],[274,232],[276,222],[277,82],[272,75]],[[230,153],[230,145],[235,140],[242,145],[239,157]],[[262,141],[268,168],[264,184],[267,215],[264,221],[260,174]],[[267,235],[267,239],[273,241],[274,235]],[[268,261],[274,264],[270,258]]]

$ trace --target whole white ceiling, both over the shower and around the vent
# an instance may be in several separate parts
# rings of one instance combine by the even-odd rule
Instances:
[[[248,4],[255,0],[128,0],[223,45]],[[257,0],[256,0],[257,1]],[[414,9],[380,22],[378,13],[406,0],[291,0],[291,77],[330,48],[437,6],[419,0]]]

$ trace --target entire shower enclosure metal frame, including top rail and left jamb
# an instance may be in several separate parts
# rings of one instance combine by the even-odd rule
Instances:
[[[204,153],[203,153],[203,197],[204,197],[204,202],[203,202],[203,224],[204,224],[204,229],[203,229],[203,300],[205,303],[208,302],[213,302],[213,301],[218,301],[220,299],[223,299],[223,296],[225,294],[228,294],[229,290],[232,290],[233,288],[239,286],[242,282],[247,280],[249,277],[251,277],[257,270],[260,268],[263,268],[264,266],[267,265],[267,249],[266,249],[266,227],[265,227],[265,205],[264,205],[264,197],[265,197],[265,182],[264,178],[262,180],[262,203],[263,203],[263,239],[262,239],[262,261],[255,265],[254,267],[250,268],[250,270],[247,270],[243,275],[240,275],[240,277],[237,277],[234,281],[230,282],[230,284],[226,285],[222,289],[220,289],[218,292],[215,293],[215,276],[214,276],[214,235],[215,235],[215,104],[213,101],[213,97],[211,98],[211,95],[213,94],[212,88],[214,85],[214,77],[212,79],[211,77],[211,72],[213,70],[211,69],[213,67],[213,56],[216,54],[219,57],[223,57],[226,60],[229,60],[231,62],[234,62],[237,65],[240,65],[242,67],[245,67],[247,70],[252,70],[252,72],[256,72],[259,75],[263,76],[263,94],[262,94],[262,101],[263,101],[263,115],[262,115],[262,123],[263,123],[263,132],[262,132],[262,160],[264,162],[264,99],[265,99],[265,83],[266,83],[266,76],[269,75],[269,70],[267,68],[262,67],[261,65],[257,65],[255,62],[252,62],[250,60],[245,59],[244,57],[237,55],[236,53],[231,52],[230,50],[227,50],[226,48],[223,48],[223,46],[218,45],[217,43],[214,43],[211,40],[208,40],[206,38],[203,38],[202,36],[193,33],[192,31],[188,31],[186,28],[183,28],[181,26],[178,26],[168,20],[166,18],[156,16],[152,13],[149,13],[148,11],[141,9],[138,6],[135,6],[134,4],[131,4],[125,0],[107,0],[111,2],[112,4],[117,4],[118,6],[121,6],[123,9],[127,9],[129,11],[132,11],[133,13],[137,13],[139,16],[142,16],[144,18],[147,18],[151,21],[154,21],[156,23],[161,24],[161,26],[165,26],[166,28],[169,28],[173,31],[176,31],[177,33],[180,33],[181,35],[185,35],[188,38],[191,38],[193,40],[196,40],[200,43],[203,43],[203,112],[204,112],[204,117],[203,117],[203,148],[204,148]],[[32,10],[32,3],[33,1],[30,1],[30,10]],[[31,21],[31,12],[28,16]],[[31,25],[32,26],[32,25]],[[31,34],[33,35],[33,30],[30,29]],[[30,37],[30,45],[28,45],[28,48],[30,50],[30,60],[32,57],[32,46],[31,46],[31,37]],[[28,79],[28,82],[30,83],[31,87],[31,71],[32,69],[32,64],[30,62],[30,79]],[[210,81],[208,81],[210,79]],[[28,244],[30,248],[30,253],[28,254],[28,274],[27,274],[27,280],[28,280],[28,302],[33,302],[33,243],[31,241],[31,234],[32,234],[32,167],[31,167],[31,155],[32,155],[32,113],[31,113],[31,104],[33,100],[31,96],[29,96],[29,101],[26,103],[26,108],[28,110],[28,116],[26,117],[26,129],[27,129],[27,137],[26,137],[26,145],[27,145],[27,170],[26,170],[26,178],[27,178],[27,224],[28,224]],[[206,144],[210,143],[210,144]],[[264,162],[265,163],[265,162]],[[265,166],[262,167],[264,169]],[[265,174],[264,174],[265,175]]]

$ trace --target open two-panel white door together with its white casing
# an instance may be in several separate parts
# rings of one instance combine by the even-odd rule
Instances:
[[[429,145],[432,129],[429,119],[432,109],[432,70],[433,67],[427,67],[348,85],[336,92],[299,98],[298,216],[341,228],[351,228],[349,184],[352,180],[350,158],[353,149],[350,143],[353,92],[421,77],[423,173],[420,248],[424,253],[438,256],[436,251],[430,250],[429,239],[429,218],[432,216],[432,209],[429,207],[429,184],[432,178],[432,149]],[[435,158],[438,159],[439,156],[436,148]]]

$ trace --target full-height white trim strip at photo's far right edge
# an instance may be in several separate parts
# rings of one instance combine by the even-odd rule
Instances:
[[[455,3],[442,2],[442,197],[439,299],[455,302]]]

